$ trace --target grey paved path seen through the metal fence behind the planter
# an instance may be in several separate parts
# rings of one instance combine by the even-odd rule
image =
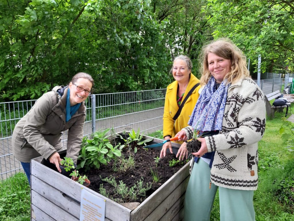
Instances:
[[[155,110],[142,111],[139,113],[130,113],[123,116],[107,118],[96,121],[96,131],[99,129],[114,128],[116,132],[135,131],[140,128],[142,134],[162,130],[163,108]],[[84,134],[92,133],[92,123],[85,123]],[[61,137],[62,140],[67,138],[67,131]],[[66,148],[66,142],[64,142]],[[6,179],[21,170],[21,164],[12,155],[11,137],[1,138],[0,140],[0,179]]]

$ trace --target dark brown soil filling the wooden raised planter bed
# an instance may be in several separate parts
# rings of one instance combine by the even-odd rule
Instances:
[[[110,176],[114,177],[116,183],[119,183],[120,180],[126,184],[127,187],[132,187],[134,184],[140,181],[143,177],[143,183],[150,183],[152,187],[150,190],[146,192],[146,197],[140,197],[139,200],[136,202],[143,202],[148,196],[150,196],[156,189],[158,189],[164,182],[166,182],[169,178],[173,176],[179,169],[183,167],[183,162],[181,164],[176,164],[173,167],[169,166],[169,161],[176,159],[174,154],[167,153],[165,157],[161,158],[156,166],[155,159],[159,157],[160,151],[156,149],[144,149],[138,148],[136,154],[133,152],[131,153],[134,156],[135,161],[135,168],[128,169],[126,171],[113,171],[114,161],[111,161],[107,165],[101,165],[100,169],[91,169],[91,171],[83,171],[83,169],[79,169],[79,172],[83,175],[86,174],[88,179],[90,180],[91,184],[88,188],[94,190],[95,192],[99,193],[100,184],[103,184],[103,187],[110,192],[110,196],[113,198],[120,198],[115,195],[114,190],[115,188],[107,182],[103,182],[100,178],[110,178]],[[128,150],[125,148],[122,151],[122,156],[125,159],[128,159],[129,153]],[[152,180],[152,175],[150,172],[150,168],[153,171],[157,171],[158,176],[161,177],[158,183],[154,183]]]

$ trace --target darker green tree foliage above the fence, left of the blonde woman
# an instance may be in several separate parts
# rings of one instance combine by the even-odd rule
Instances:
[[[1,1],[0,99],[38,98],[79,71],[93,76],[96,93],[166,88],[174,56],[193,55],[205,38],[205,22],[193,24],[199,4]]]

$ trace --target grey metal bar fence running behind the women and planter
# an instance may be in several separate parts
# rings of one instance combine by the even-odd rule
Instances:
[[[256,81],[255,81],[256,82]],[[265,94],[284,88],[283,78],[260,81]],[[288,83],[287,83],[288,84]],[[289,83],[290,84],[290,83]],[[140,129],[142,134],[162,130],[166,89],[90,95],[86,100],[84,136],[96,130],[114,128],[115,131]],[[0,177],[5,179],[21,164],[12,156],[11,134],[15,124],[34,105],[36,100],[0,103]],[[67,131],[61,137],[66,148]]]

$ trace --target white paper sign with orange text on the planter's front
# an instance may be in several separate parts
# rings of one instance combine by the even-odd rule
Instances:
[[[82,188],[80,221],[104,221],[104,219],[105,199]]]

